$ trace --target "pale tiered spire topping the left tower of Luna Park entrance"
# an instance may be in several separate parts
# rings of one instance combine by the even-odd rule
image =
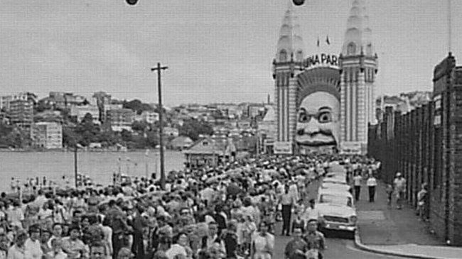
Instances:
[[[301,36],[300,24],[294,11],[294,4],[288,1],[287,11],[282,19],[281,29],[279,30],[279,40],[276,50],[276,62],[286,62],[291,60],[303,60],[303,38]]]

